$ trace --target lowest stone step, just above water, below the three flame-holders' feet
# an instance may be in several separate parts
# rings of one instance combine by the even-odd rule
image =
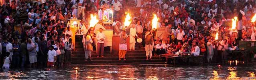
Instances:
[[[145,59],[134,59],[134,60],[93,60],[93,61],[84,61],[84,60],[72,60],[71,64],[134,64],[134,63],[141,63],[141,64],[148,64],[148,63],[159,63],[162,62],[163,60],[161,59],[154,59],[154,60],[145,60]]]

